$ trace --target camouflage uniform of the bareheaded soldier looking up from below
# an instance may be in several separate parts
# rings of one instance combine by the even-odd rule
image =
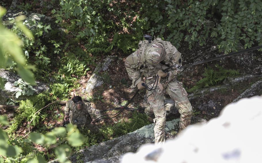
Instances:
[[[81,110],[77,110],[72,100],[67,101],[66,107],[64,108],[65,115],[69,115],[69,121],[77,127],[85,126],[92,133],[98,133],[99,129],[95,124],[91,124],[93,115],[96,118],[101,117],[100,110],[92,108],[90,103],[82,102],[83,106]]]

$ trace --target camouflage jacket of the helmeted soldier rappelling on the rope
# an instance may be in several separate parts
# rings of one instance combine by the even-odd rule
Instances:
[[[164,45],[166,56],[163,62],[165,64],[182,65],[181,53],[177,51],[177,49],[169,41],[163,41],[161,38],[156,38],[151,42],[151,44],[154,42],[159,42]],[[162,64],[163,62],[159,63],[158,65],[150,65],[145,61],[146,48],[149,45],[150,44],[148,43],[148,40],[140,41],[138,44],[139,48],[126,58],[125,67],[129,78],[132,80],[133,86],[136,86],[140,81],[142,81],[143,76],[146,78],[146,84],[151,84],[154,79],[151,77],[155,77],[158,70],[164,70],[168,67]],[[160,82],[167,84],[169,81],[175,78],[177,73],[178,72],[175,70],[169,71],[169,75],[161,79]]]

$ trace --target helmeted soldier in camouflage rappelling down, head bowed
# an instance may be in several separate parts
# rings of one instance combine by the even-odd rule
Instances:
[[[149,107],[145,113],[152,117],[155,122],[155,143],[164,143],[166,109],[165,97],[170,96],[176,103],[180,116],[179,128],[185,129],[191,122],[192,106],[187,98],[187,92],[182,83],[176,80],[178,71],[172,70],[164,73],[162,70],[169,65],[182,65],[181,53],[168,41],[156,38],[151,43],[148,40],[140,41],[138,49],[126,58],[125,67],[133,86],[143,89],[143,77],[149,88],[153,87],[156,76],[158,82],[153,89],[147,90],[147,103]],[[168,65],[168,66],[166,66]]]

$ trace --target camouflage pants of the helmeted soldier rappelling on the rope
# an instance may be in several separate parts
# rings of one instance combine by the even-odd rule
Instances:
[[[182,83],[170,81],[163,92],[168,94],[174,102],[176,102],[180,113],[179,128],[185,129],[190,125],[193,110]],[[147,103],[149,107],[145,109],[145,113],[152,118],[155,116],[155,143],[164,143],[165,141],[166,110],[163,92],[158,87],[153,91],[147,92]]]

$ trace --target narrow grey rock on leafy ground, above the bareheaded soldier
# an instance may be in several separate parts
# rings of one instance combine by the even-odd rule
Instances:
[[[112,61],[114,61],[115,56],[107,56],[103,62],[99,62],[96,68],[94,69],[94,72],[90,79],[88,80],[86,84],[86,89],[83,89],[83,92],[91,93],[92,90],[98,86],[101,86],[103,84],[102,77],[99,75],[100,72],[106,71]]]

